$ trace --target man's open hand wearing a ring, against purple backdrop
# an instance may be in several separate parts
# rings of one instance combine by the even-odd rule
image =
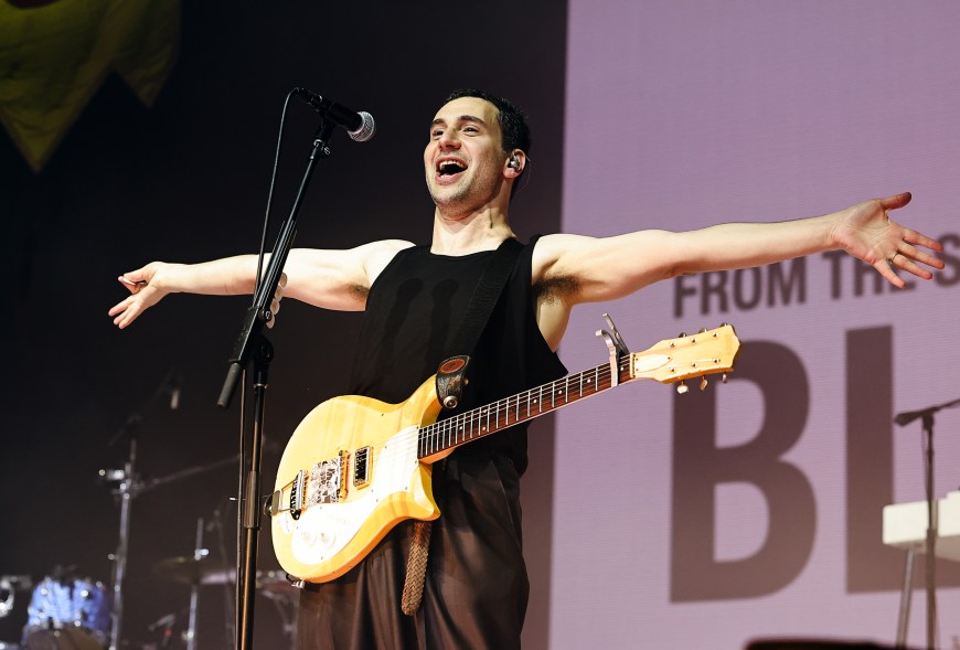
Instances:
[[[910,193],[904,192],[886,199],[873,199],[857,203],[839,213],[832,236],[836,245],[872,265],[890,284],[904,288],[906,283],[897,276],[894,267],[929,280],[934,274],[919,266],[943,268],[943,262],[917,246],[941,252],[943,246],[936,239],[896,223],[888,212],[910,202]]]

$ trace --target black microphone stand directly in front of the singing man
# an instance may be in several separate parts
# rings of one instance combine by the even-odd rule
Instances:
[[[300,212],[300,205],[310,183],[310,178],[313,175],[313,170],[317,162],[322,158],[330,156],[328,141],[333,135],[333,129],[337,122],[321,117],[320,127],[313,136],[313,149],[307,161],[307,169],[303,172],[303,179],[300,182],[300,188],[297,190],[297,196],[294,200],[294,206],[290,215],[284,222],[280,228],[280,234],[277,236],[277,243],[274,246],[274,252],[270,254],[270,262],[267,265],[267,270],[264,274],[263,281],[256,288],[254,294],[254,302],[247,310],[239,335],[234,343],[233,354],[230,359],[230,370],[224,380],[223,388],[217,399],[217,405],[226,408],[230,406],[231,399],[241,375],[245,374],[247,364],[253,361],[254,369],[254,419],[250,435],[250,454],[249,463],[244,468],[243,460],[241,461],[241,475],[238,482],[242,493],[239,494],[239,528],[237,531],[238,537],[243,536],[243,543],[239,547],[237,557],[237,608],[236,608],[236,647],[238,650],[247,650],[252,648],[253,631],[254,631],[254,596],[256,590],[256,567],[257,567],[257,534],[259,532],[259,515],[260,515],[260,454],[263,448],[263,426],[264,411],[266,403],[267,376],[269,374],[269,364],[274,356],[274,349],[270,342],[264,337],[264,324],[273,319],[270,313],[270,302],[274,298],[274,292],[277,290],[277,285],[280,281],[280,275],[284,270],[284,265],[287,262],[287,256],[294,245],[294,237],[297,234],[297,214]],[[245,382],[244,382],[245,384]],[[242,394],[246,391],[243,386]],[[245,398],[242,396],[242,413],[241,413],[241,450],[245,450]]]

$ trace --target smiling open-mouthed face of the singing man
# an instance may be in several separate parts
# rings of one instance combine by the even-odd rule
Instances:
[[[427,188],[438,207],[470,211],[491,201],[504,181],[506,154],[497,107],[478,97],[445,104],[424,150]]]

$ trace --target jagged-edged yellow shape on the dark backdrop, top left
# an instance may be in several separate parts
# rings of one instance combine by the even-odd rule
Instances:
[[[179,40],[180,0],[0,1],[0,122],[39,172],[111,72],[152,106]]]

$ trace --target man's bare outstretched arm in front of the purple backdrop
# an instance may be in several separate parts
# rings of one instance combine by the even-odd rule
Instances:
[[[729,223],[698,231],[641,231],[616,237],[551,235],[537,245],[545,286],[565,287],[567,307],[621,298],[682,274],[761,266],[783,259],[842,248],[897,287],[904,280],[892,266],[930,279],[922,265],[943,268],[942,260],[922,251],[942,251],[935,239],[889,217],[910,194],[857,203],[824,216],[779,223]]]

